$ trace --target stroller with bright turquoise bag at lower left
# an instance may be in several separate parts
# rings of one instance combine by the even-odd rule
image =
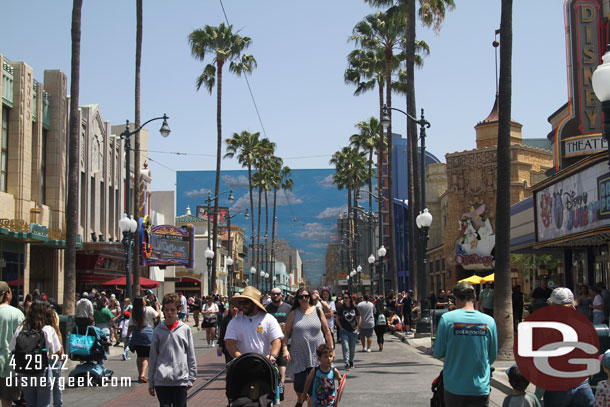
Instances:
[[[95,326],[75,326],[70,334],[69,355],[71,360],[81,363],[70,372],[71,381],[75,386],[101,385],[104,378],[110,378],[114,373],[98,364],[106,359],[110,342],[106,334]]]

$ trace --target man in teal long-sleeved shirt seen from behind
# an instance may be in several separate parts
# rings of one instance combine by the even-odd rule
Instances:
[[[434,356],[445,358],[445,404],[483,407],[489,404],[490,367],[498,353],[492,317],[474,309],[474,288],[461,282],[453,291],[458,307],[441,316]]]

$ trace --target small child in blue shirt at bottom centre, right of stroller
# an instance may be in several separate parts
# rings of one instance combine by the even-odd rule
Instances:
[[[316,349],[316,355],[318,355],[320,366],[311,369],[305,381],[305,389],[311,388],[313,384],[312,396],[308,399],[307,405],[309,407],[336,406],[335,380],[341,381],[341,374],[333,367],[335,352],[331,346],[323,343]]]

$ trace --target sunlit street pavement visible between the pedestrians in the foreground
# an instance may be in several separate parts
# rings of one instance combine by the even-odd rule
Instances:
[[[192,322],[191,322],[192,325]],[[216,355],[216,348],[208,348],[205,344],[205,334],[193,328],[195,339],[195,353],[197,356],[198,379],[190,390],[192,394],[188,400],[192,406],[224,407],[225,376],[221,374],[217,380],[211,382],[204,389],[198,390],[205,382],[215,376],[224,368],[224,358]],[[386,334],[386,343],[383,352],[377,351],[376,340],[373,339],[373,352],[360,352],[357,345],[354,359],[354,368],[347,371],[347,385],[341,405],[350,407],[359,406],[388,406],[406,405],[429,406],[432,392],[432,380],[442,369],[442,362],[429,354],[430,338],[401,338]],[[108,406],[108,407],[154,407],[158,406],[156,397],[148,394],[148,385],[137,382],[137,368],[135,355],[131,360],[121,360],[122,347],[112,347],[106,366],[114,370],[114,377],[131,379],[131,383],[119,384],[112,387],[86,387],[66,388],[64,390],[64,406]],[[343,360],[341,345],[335,350],[335,365],[342,373]],[[72,369],[75,362],[69,362]],[[494,378],[504,379],[505,383],[496,381],[492,388],[490,406],[501,406],[505,392],[510,391],[504,370],[512,363],[498,362]],[[67,376],[69,370],[64,371]],[[499,384],[498,384],[499,383]],[[286,400],[281,405],[292,407],[296,402],[296,395],[290,380],[286,383]]]

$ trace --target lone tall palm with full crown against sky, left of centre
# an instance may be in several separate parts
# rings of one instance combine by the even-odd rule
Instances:
[[[216,184],[214,186],[214,213],[218,213],[218,194],[220,188],[220,160],[222,158],[222,68],[229,62],[229,72],[237,76],[242,73],[251,73],[256,67],[256,60],[252,55],[242,55],[252,40],[233,33],[233,26],[220,23],[218,27],[206,25],[196,29],[189,35],[189,44],[193,57],[203,61],[206,54],[212,54],[212,63],[205,66],[197,78],[197,90],[205,86],[210,94],[216,85],[216,129],[218,133],[216,142]],[[214,222],[213,250],[216,258],[218,240],[218,223]],[[212,267],[212,291],[216,287],[216,262]]]

